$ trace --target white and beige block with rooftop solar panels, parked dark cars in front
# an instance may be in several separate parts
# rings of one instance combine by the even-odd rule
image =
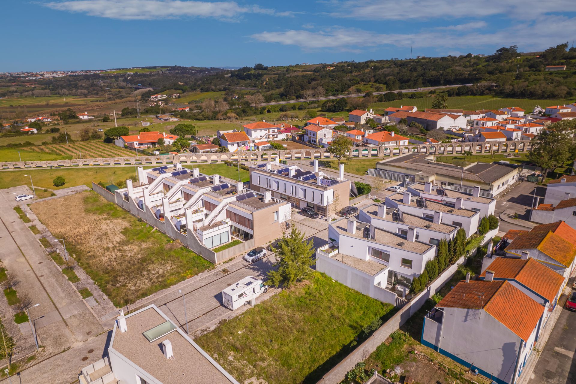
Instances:
[[[320,172],[317,159],[313,172],[303,171],[297,165],[279,164],[276,160],[253,165],[249,170],[252,190],[268,191],[273,198],[288,201],[294,208],[309,207],[329,216],[348,205],[350,180],[344,178],[344,164],[340,164],[338,178]],[[335,207],[328,209],[331,204]]]

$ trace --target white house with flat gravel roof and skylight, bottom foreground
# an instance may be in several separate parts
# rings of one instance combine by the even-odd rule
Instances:
[[[116,319],[108,356],[80,384],[239,384],[154,304]]]

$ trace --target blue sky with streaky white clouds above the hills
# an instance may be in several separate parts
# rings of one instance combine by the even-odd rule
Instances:
[[[3,0],[0,72],[289,65],[541,50],[576,39],[576,1]]]

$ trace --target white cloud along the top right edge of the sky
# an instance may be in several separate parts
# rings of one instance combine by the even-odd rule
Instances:
[[[574,0],[357,0],[330,1],[332,13],[339,17],[361,20],[419,20],[482,18],[507,15],[514,18],[534,19],[544,13],[576,12]]]

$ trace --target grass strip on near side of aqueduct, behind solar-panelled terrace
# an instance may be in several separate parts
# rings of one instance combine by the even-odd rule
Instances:
[[[144,168],[153,168],[156,165],[147,165]],[[226,164],[185,164],[186,168],[199,168],[202,174],[219,174],[230,179],[238,179],[238,170],[234,167],[228,167]],[[117,166],[103,167],[94,165],[92,167],[75,167],[60,169],[44,170],[17,170],[0,172],[0,189],[15,187],[18,185],[30,184],[30,178],[25,175],[31,175],[32,181],[36,188],[49,188],[52,190],[86,185],[92,188],[92,182],[103,182],[106,185],[122,182],[136,175],[136,167]],[[61,187],[55,187],[52,180],[56,176],[64,176],[66,184]],[[240,178],[243,182],[249,180],[248,171],[240,170]]]

